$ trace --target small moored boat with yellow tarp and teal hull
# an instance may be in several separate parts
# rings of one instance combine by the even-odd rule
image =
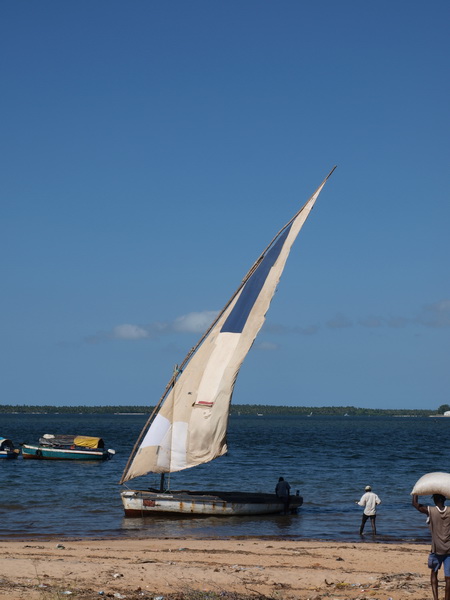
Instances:
[[[46,433],[39,444],[22,444],[23,458],[37,460],[109,460],[115,450],[106,449],[102,438]]]

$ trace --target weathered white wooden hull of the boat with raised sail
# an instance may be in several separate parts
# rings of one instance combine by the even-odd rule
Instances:
[[[146,517],[161,513],[249,516],[276,514],[284,510],[283,503],[275,494],[127,490],[121,496],[127,517]],[[290,512],[295,512],[302,504],[302,496],[291,496]]]

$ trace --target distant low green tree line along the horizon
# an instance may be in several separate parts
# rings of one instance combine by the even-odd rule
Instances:
[[[0,405],[1,413],[34,413],[34,414],[114,414],[114,413],[145,413],[150,414],[153,408],[149,406],[51,406],[51,405]],[[335,416],[411,416],[429,417],[444,414],[450,406],[443,404],[437,410],[421,409],[381,409],[356,408],[355,406],[272,406],[265,404],[232,404],[233,415],[335,415]]]

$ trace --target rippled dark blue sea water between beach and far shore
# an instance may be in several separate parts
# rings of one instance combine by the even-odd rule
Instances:
[[[145,421],[144,415],[0,415],[0,435],[16,443],[35,442],[44,433],[74,433],[103,437],[117,452],[104,463],[0,460],[0,538],[360,541],[362,509],[355,501],[370,484],[382,500],[377,539],[425,542],[428,528],[411,506],[412,486],[424,473],[450,471],[450,419],[232,415],[229,454],[172,475],[172,489],[271,492],[283,475],[304,497],[298,514],[130,519],[123,515],[123,487],[117,482]],[[158,484],[156,476],[128,483],[137,489]]]

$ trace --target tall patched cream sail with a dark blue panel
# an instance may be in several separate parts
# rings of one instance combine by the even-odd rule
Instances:
[[[181,471],[226,453],[229,407],[239,369],[264,323],[291,246],[331,173],[272,240],[198,349],[185,360],[186,367],[173,378],[159,411],[144,428],[121,483],[149,472]]]

